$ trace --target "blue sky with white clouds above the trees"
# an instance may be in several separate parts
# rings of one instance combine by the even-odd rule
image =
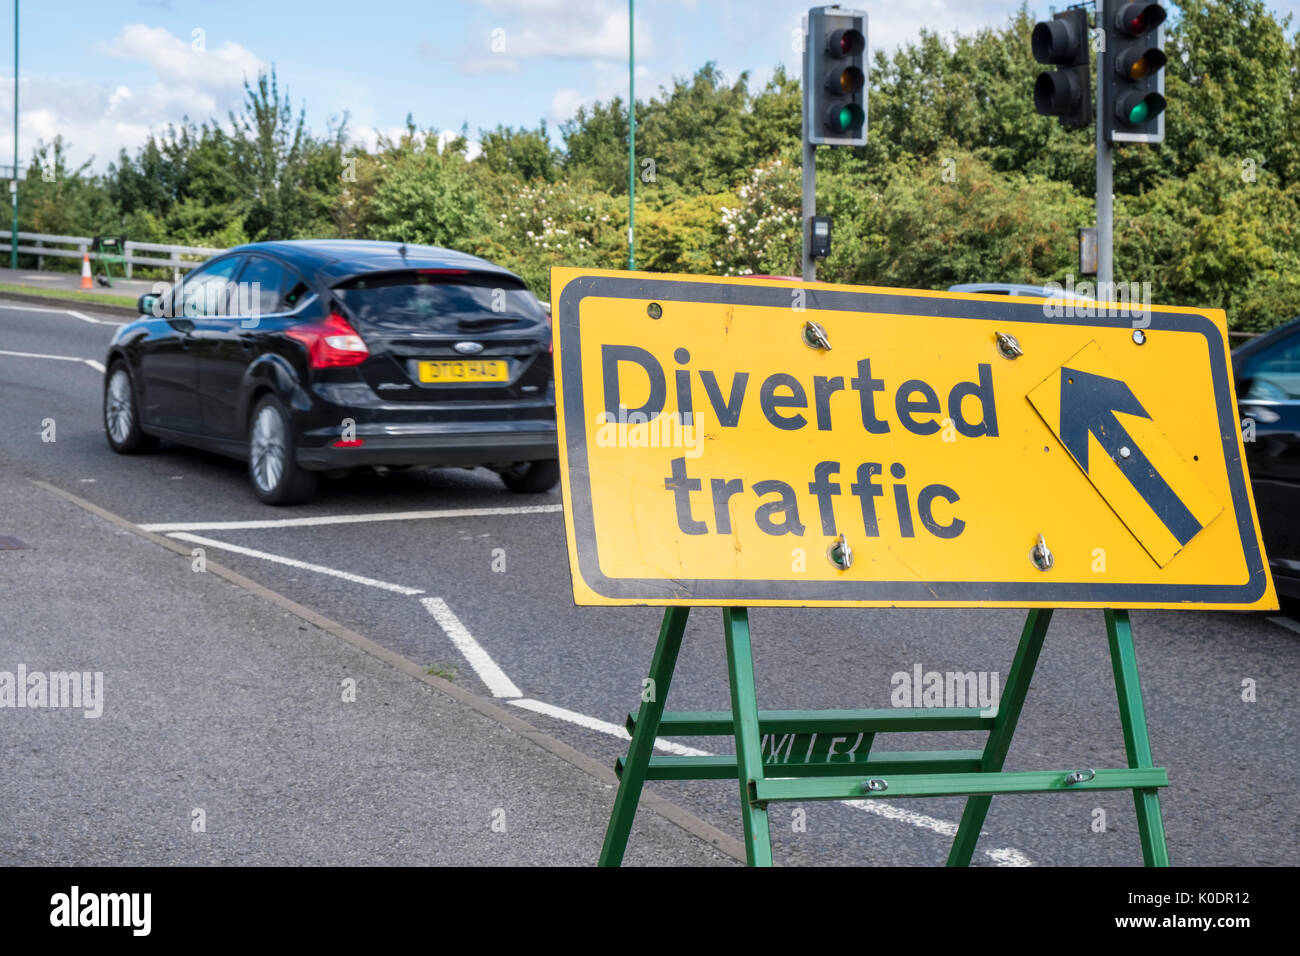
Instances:
[[[708,60],[762,82],[797,70],[793,34],[809,3],[640,0],[637,94],[646,98]],[[849,3],[844,4],[850,5]],[[1002,0],[859,3],[874,49],[997,26]],[[1065,3],[1060,3],[1065,5]],[[1300,0],[1275,0],[1295,12]],[[1048,3],[1030,3],[1048,13]],[[627,0],[25,0],[20,153],[62,134],[103,168],[121,147],[179,121],[224,117],[244,75],[274,64],[308,122],[351,114],[363,142],[420,126],[471,138],[497,124],[552,127],[582,103],[627,95]],[[13,16],[0,7],[0,161],[13,151]]]

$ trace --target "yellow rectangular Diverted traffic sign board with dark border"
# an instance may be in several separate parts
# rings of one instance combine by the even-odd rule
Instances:
[[[551,287],[578,604],[1277,606],[1219,311]]]

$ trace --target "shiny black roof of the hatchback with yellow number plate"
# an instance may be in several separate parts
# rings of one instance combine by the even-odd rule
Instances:
[[[274,239],[235,246],[230,252],[270,252],[303,272],[338,282],[372,272],[468,269],[519,280],[510,269],[454,248],[380,239]],[[523,282],[523,280],[519,280]]]

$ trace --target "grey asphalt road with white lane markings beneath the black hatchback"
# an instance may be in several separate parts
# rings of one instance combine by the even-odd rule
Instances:
[[[238,462],[174,445],[114,455],[100,425],[95,364],[118,320],[87,321],[96,316],[79,311],[83,319],[53,307],[0,307],[0,467],[160,533],[194,536],[178,540],[463,687],[529,711],[532,723],[580,750],[611,763],[623,752],[616,728],[640,697],[660,613],[573,606],[558,493],[510,494],[481,470],[372,475],[325,481],[307,506],[270,509],[254,498]],[[55,442],[42,441],[47,419],[56,424]],[[462,511],[469,514],[439,514]],[[417,514],[374,520],[400,512]],[[259,524],[230,527],[240,522]],[[75,592],[64,589],[56,600],[74,619]],[[131,614],[129,594],[121,614]],[[883,708],[890,676],[916,665],[1005,678],[1023,613],[758,609],[750,620],[762,708]],[[1300,737],[1300,626],[1270,615],[1138,611],[1134,632],[1156,762],[1171,782],[1162,805],[1173,862],[1300,862],[1291,770]],[[1247,679],[1256,685],[1253,702],[1242,698]],[[697,610],[668,706],[727,709],[728,700],[720,614]],[[883,745],[983,743],[975,734],[909,736]],[[729,747],[719,739],[676,743]],[[1124,766],[1100,611],[1056,614],[1006,766]],[[738,835],[734,783],[655,787]],[[774,852],[784,864],[937,865],[961,806],[958,799],[866,809],[774,804]],[[1097,809],[1105,812],[1100,832]],[[1127,793],[997,797],[975,856],[980,865],[1140,861]]]

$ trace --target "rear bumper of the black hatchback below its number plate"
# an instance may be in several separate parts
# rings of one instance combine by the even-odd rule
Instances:
[[[358,425],[359,445],[339,446],[338,429],[304,434],[296,460],[308,471],[358,466],[510,466],[559,458],[554,421],[499,425]],[[315,444],[320,441],[321,444]]]

